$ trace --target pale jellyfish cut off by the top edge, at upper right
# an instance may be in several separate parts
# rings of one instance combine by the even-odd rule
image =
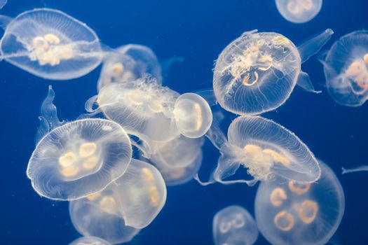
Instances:
[[[294,23],[304,23],[315,18],[322,8],[322,0],[275,0],[278,12]]]

